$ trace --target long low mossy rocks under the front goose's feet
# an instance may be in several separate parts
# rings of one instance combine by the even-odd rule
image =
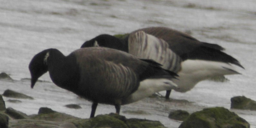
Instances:
[[[30,118],[9,122],[10,128],[166,128],[159,121],[146,119],[127,119],[118,114],[97,115],[81,119],[65,113],[42,107],[39,114]],[[2,127],[1,127],[2,128]]]

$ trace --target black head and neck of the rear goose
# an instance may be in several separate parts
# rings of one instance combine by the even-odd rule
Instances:
[[[84,42],[81,48],[83,47],[108,47],[128,52],[128,44],[124,40],[108,34],[102,34]]]

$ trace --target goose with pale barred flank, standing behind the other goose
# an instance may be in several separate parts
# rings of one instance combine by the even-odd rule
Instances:
[[[223,52],[223,47],[201,42],[166,27],[135,30],[125,38],[102,34],[86,41],[81,47],[99,46],[122,50],[162,64],[164,69],[179,75],[179,80],[173,80],[179,87],[174,90],[178,92],[191,90],[199,81],[214,76],[240,74],[232,64],[243,68],[235,58]],[[167,99],[170,92],[166,91]]]

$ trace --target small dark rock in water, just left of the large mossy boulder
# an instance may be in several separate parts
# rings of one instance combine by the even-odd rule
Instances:
[[[168,117],[170,119],[184,121],[188,116],[189,116],[189,113],[187,111],[176,110],[176,111],[170,112]]]

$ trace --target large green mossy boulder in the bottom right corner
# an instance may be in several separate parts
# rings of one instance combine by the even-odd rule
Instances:
[[[250,128],[250,124],[224,107],[214,107],[191,114],[179,128]]]

